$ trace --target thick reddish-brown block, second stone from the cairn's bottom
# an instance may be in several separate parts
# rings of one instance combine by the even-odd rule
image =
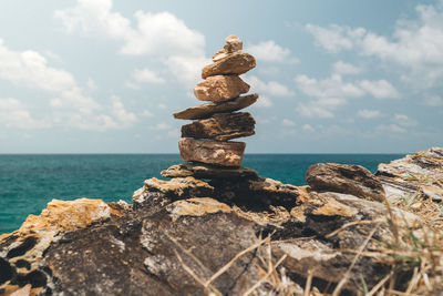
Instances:
[[[240,166],[245,153],[244,142],[216,142],[182,137],[178,150],[185,162],[203,162],[222,166]]]

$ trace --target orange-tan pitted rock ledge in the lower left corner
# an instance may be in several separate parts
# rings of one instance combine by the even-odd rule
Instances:
[[[29,215],[18,231],[0,235],[0,294],[2,288],[13,293],[28,284],[32,295],[40,293],[50,277],[40,263],[53,242],[65,233],[122,216],[127,211],[125,205],[110,206],[101,200],[52,200],[39,216]]]

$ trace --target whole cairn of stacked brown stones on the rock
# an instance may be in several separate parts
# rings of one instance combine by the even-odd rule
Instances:
[[[238,178],[257,177],[257,172],[241,166],[246,143],[233,139],[255,134],[255,120],[247,112],[236,112],[254,104],[258,94],[241,95],[250,86],[239,75],[256,67],[256,60],[243,53],[236,35],[226,38],[225,47],[202,70],[204,81],[194,88],[195,96],[210,103],[174,113],[193,120],[182,126],[178,149],[186,162],[162,172],[164,177]]]

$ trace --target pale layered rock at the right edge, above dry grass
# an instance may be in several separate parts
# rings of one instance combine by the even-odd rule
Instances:
[[[432,147],[389,164],[380,164],[377,177],[389,201],[413,196],[443,201],[443,149]]]

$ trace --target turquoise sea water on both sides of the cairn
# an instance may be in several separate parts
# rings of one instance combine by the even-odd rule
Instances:
[[[377,165],[403,154],[251,154],[244,165],[261,176],[295,185],[318,162]],[[150,177],[181,163],[177,154],[0,155],[0,234],[17,229],[29,214],[40,214],[52,198],[131,202]]]

